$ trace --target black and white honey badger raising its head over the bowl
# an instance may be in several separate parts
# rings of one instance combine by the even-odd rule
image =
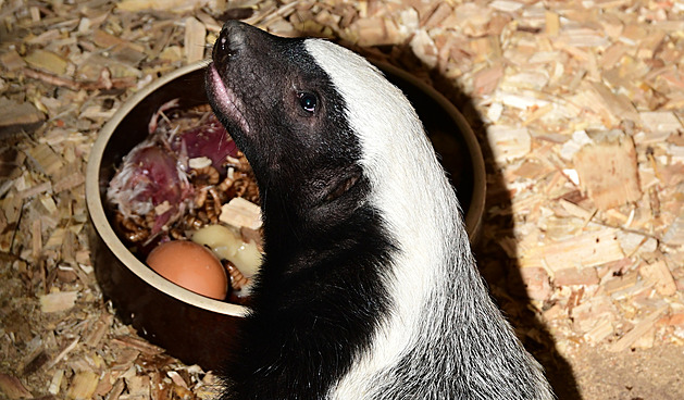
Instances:
[[[224,25],[207,68],[264,259],[222,399],[551,399],[402,92],[321,39]],[[416,184],[420,183],[420,184]]]

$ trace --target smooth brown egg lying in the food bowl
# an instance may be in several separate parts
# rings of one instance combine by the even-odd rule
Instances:
[[[207,248],[192,241],[167,241],[156,247],[147,264],[158,274],[196,293],[223,300],[228,290],[225,268]]]

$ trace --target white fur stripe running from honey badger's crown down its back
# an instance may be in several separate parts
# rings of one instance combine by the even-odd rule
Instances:
[[[450,258],[445,237],[453,236],[458,204],[413,108],[399,89],[361,57],[333,43],[309,39],[309,53],[344,98],[350,127],[362,149],[371,179],[371,201],[400,248],[387,276],[394,302],[369,353],[353,363],[329,393],[331,399],[363,399],[373,391],[370,377],[391,367],[425,333],[423,304],[435,286],[436,265]],[[420,160],[415,162],[414,160]]]

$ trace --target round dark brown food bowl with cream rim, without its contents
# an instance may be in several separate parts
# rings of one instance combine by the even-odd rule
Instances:
[[[225,343],[236,335],[236,321],[247,308],[213,300],[158,275],[136,258],[110,225],[107,187],[122,158],[147,136],[159,107],[181,99],[181,107],[208,102],[204,63],[179,68],[140,90],[102,128],[86,172],[86,200],[92,222],[95,272],[117,315],[150,342],[188,364],[213,370],[228,355]],[[485,168],[480,146],[459,111],[432,87],[410,74],[378,64],[415,107],[450,173],[471,240],[477,236],[484,210]]]

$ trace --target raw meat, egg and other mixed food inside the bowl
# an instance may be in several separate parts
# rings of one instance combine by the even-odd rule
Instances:
[[[149,136],[117,166],[107,190],[112,225],[132,252],[147,258],[160,275],[200,295],[245,303],[249,278],[261,262],[257,183],[245,155],[211,109],[179,109],[178,103],[172,100],[160,107],[148,124]],[[223,263],[224,276],[226,272],[229,276],[229,290],[197,290],[198,283],[189,279],[187,268],[159,261],[151,265],[150,260],[160,259],[160,248],[165,249],[162,254],[178,254],[179,246],[167,245],[175,241],[209,249]],[[192,248],[184,246],[187,251]],[[161,259],[177,264],[173,255]],[[184,257],[176,260],[181,259],[188,262]],[[208,264],[197,268],[206,287],[213,285],[217,274],[215,268],[203,272]]]

